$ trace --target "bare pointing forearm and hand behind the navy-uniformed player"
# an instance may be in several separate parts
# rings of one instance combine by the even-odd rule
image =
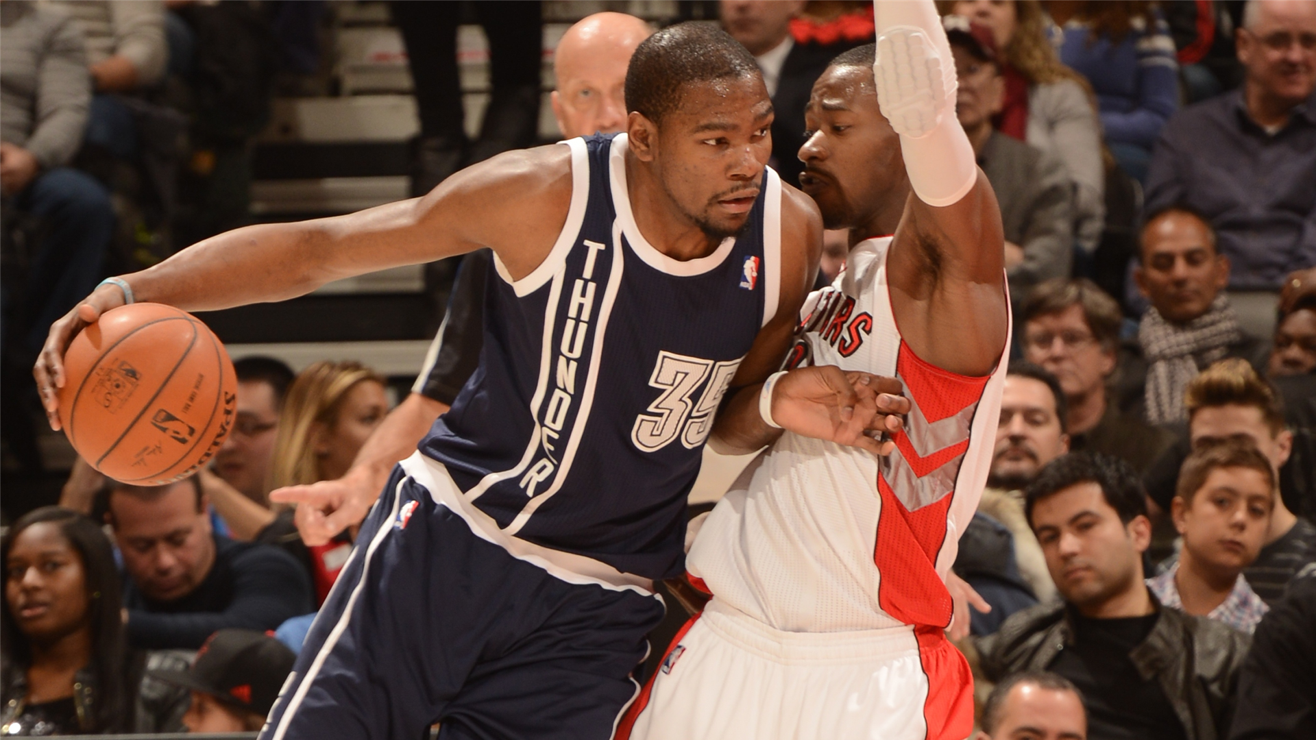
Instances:
[[[287,486],[272,491],[270,500],[297,504],[297,532],[305,544],[328,542],[366,519],[393,465],[416,452],[416,445],[445,411],[445,403],[421,394],[408,395],[370,435],[342,478]]]

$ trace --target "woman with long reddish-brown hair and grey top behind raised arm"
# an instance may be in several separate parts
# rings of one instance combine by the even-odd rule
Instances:
[[[996,130],[1059,159],[1074,184],[1074,230],[1079,246],[1096,250],[1105,228],[1105,165],[1101,126],[1087,80],[1061,63],[1046,38],[1038,0],[937,0],[942,13],[992,29],[1001,50],[1004,99]],[[1023,298],[1023,296],[1020,296]]]

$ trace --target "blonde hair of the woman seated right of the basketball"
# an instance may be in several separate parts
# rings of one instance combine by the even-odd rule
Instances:
[[[354,361],[316,362],[292,381],[279,415],[279,436],[274,441],[274,489],[320,481],[312,444],[313,427],[333,427],[343,396],[363,381],[384,384],[378,373]]]

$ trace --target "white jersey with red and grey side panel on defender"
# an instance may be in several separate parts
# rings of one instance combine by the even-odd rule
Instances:
[[[787,366],[899,378],[912,410],[896,452],[879,458],[786,432],[717,504],[687,558],[716,599],[776,629],[950,623],[945,575],[987,482],[1007,356],[984,378],[916,357],[891,312],[890,248],[891,237],[861,242],[809,296]]]

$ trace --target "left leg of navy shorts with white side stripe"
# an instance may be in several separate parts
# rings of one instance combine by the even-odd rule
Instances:
[[[467,587],[467,540],[465,521],[395,470],[263,736],[420,736],[487,639],[490,620]]]

